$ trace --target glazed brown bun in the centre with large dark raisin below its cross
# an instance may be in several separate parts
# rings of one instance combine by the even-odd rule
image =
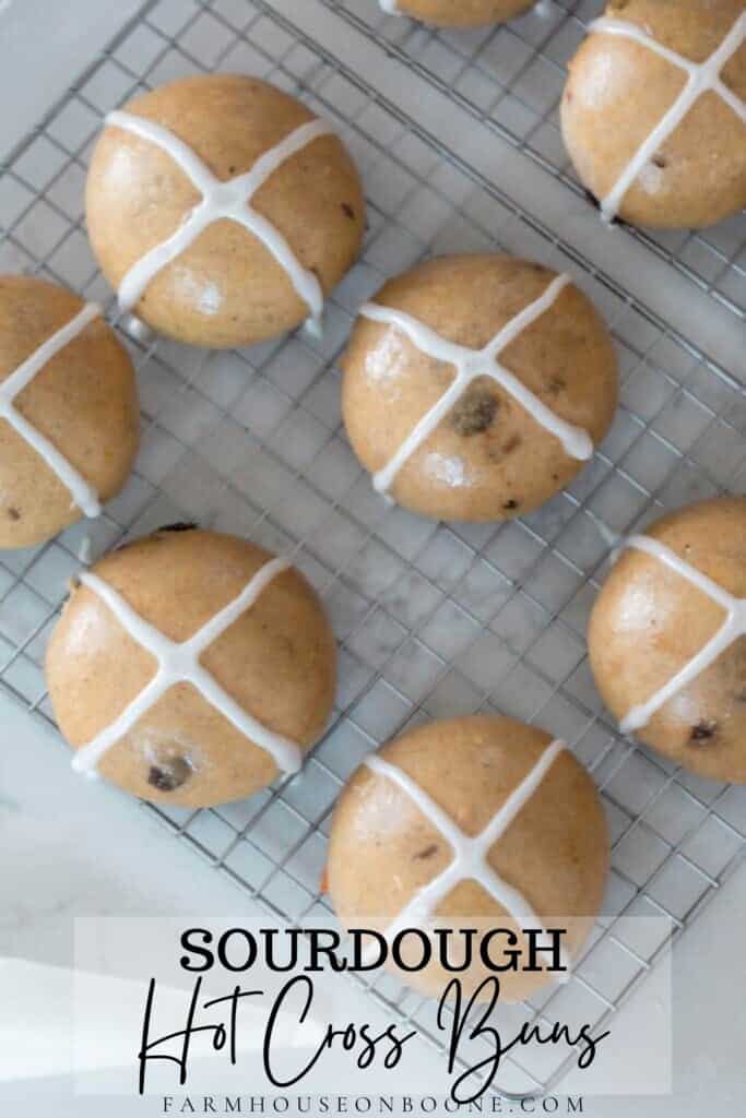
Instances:
[[[606,326],[569,282],[498,360],[554,421],[573,426],[582,443],[573,455],[582,457],[567,453],[514,394],[478,375],[390,472],[456,377],[453,361],[429,356],[390,310],[441,340],[480,350],[557,283],[548,268],[508,256],[440,257],[389,281],[372,312],[363,307],[343,360],[342,410],[377,489],[424,517],[492,521],[531,512],[575,477],[611,426],[617,376]],[[476,371],[490,364],[484,358]]]

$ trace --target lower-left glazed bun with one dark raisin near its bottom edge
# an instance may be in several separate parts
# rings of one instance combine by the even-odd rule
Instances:
[[[180,644],[255,585],[272,560],[245,540],[185,525],[107,555],[88,572],[100,580],[95,586],[84,575],[47,652],[49,694],[70,746],[89,749],[155,675],[153,655],[104,601],[102,587]],[[275,574],[201,651],[199,664],[242,717],[287,739],[292,749],[310,748],[323,731],[334,699],[336,644],[317,595],[295,568]],[[77,767],[84,756],[76,757]],[[207,807],[270,784],[281,770],[275,757],[192,684],[177,682],[116,737],[97,769],[145,799]]]

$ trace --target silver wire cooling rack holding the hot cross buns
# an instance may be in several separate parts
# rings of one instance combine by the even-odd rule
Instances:
[[[744,224],[684,235],[676,247],[624,231],[612,256],[605,247],[596,254],[608,245],[601,226],[553,231],[522,191],[483,173],[476,155],[464,158],[418,120],[436,82],[495,130],[508,129],[509,112],[531,108],[533,123],[513,127],[513,142],[533,155],[526,188],[544,191],[551,214],[556,190],[572,181],[551,119],[561,63],[595,7],[545,3],[510,28],[457,37],[384,20],[374,0],[142,4],[2,168],[0,267],[66,283],[103,301],[114,318],[83,216],[102,115],[159,83],[216,68],[268,78],[337,123],[366,180],[365,253],[330,301],[322,341],[296,333],[244,352],[206,353],[119,323],[143,407],[138,466],[98,521],[2,555],[0,679],[30,712],[53,721],[45,644],[83,544],[96,558],[130,534],[192,519],[292,551],[340,642],[329,732],[302,774],[251,800],[196,813],[148,811],[249,897],[298,923],[329,912],[319,884],[330,812],[370,749],[427,718],[495,710],[536,721],[592,770],[613,865],[604,915],[572,980],[503,1013],[518,1024],[554,1018],[601,1029],[746,849],[746,789],[697,779],[621,738],[585,650],[613,538],[746,482],[746,399],[731,375],[738,370],[709,353],[707,313],[743,315]],[[360,41],[368,66],[356,54]],[[380,59],[395,70],[383,73]],[[410,101],[391,84],[399,70],[417,83]],[[538,88],[551,76],[541,104],[530,92],[533,72]],[[356,309],[385,277],[433,253],[495,247],[570,272],[594,299],[618,348],[622,404],[593,462],[532,517],[502,525],[429,523],[372,493],[341,427],[337,362]],[[671,276],[686,273],[686,333],[635,296],[651,249]],[[607,267],[598,264],[604,256]],[[620,278],[630,263],[629,277]],[[429,1003],[386,976],[372,980],[371,993],[441,1048]],[[572,1052],[527,1050],[506,1061],[500,1089],[541,1093],[573,1060]]]

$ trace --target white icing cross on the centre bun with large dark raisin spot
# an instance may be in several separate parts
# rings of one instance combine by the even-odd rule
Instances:
[[[431,330],[424,322],[406,314],[404,311],[396,311],[393,307],[381,306],[378,303],[366,303],[360,310],[366,319],[374,322],[383,322],[387,325],[396,326],[427,357],[437,361],[445,361],[455,366],[456,376],[451,386],[436,404],[423,416],[414,430],[404,440],[391,461],[374,476],[374,486],[379,493],[387,493],[396,475],[419,449],[422,444],[429,438],[438,424],[445,418],[451,408],[464,395],[469,386],[478,377],[491,377],[510,396],[516,399],[521,407],[526,408],[530,416],[536,419],[541,427],[555,435],[563,444],[566,453],[578,461],[586,461],[593,456],[593,439],[587,432],[573,424],[566,423],[555,415],[550,408],[544,404],[538,396],[531,392],[518,377],[506,369],[498,358],[511,342],[523,333],[537,319],[540,319],[554,304],[561,292],[572,283],[567,275],[557,276],[551,282],[547,291],[537,299],[536,302],[527,306],[520,314],[511,319],[488,342],[484,349],[472,350],[465,345],[457,345],[455,342],[446,341],[441,334]]]

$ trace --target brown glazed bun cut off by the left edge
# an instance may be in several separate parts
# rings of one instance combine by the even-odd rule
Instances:
[[[88,319],[79,318],[87,311]],[[65,344],[60,335],[56,352],[44,360],[41,348],[67,328],[74,335]],[[38,369],[26,382],[21,367],[30,371],[31,362]],[[21,380],[13,381],[13,373]],[[134,369],[96,307],[86,310],[77,295],[32,276],[6,275],[0,383],[22,427],[0,419],[0,548],[27,548],[84,515],[76,498],[86,512],[98,511],[63,480],[69,467],[94,505],[124,486],[140,437]],[[55,466],[63,459],[62,468]]]

